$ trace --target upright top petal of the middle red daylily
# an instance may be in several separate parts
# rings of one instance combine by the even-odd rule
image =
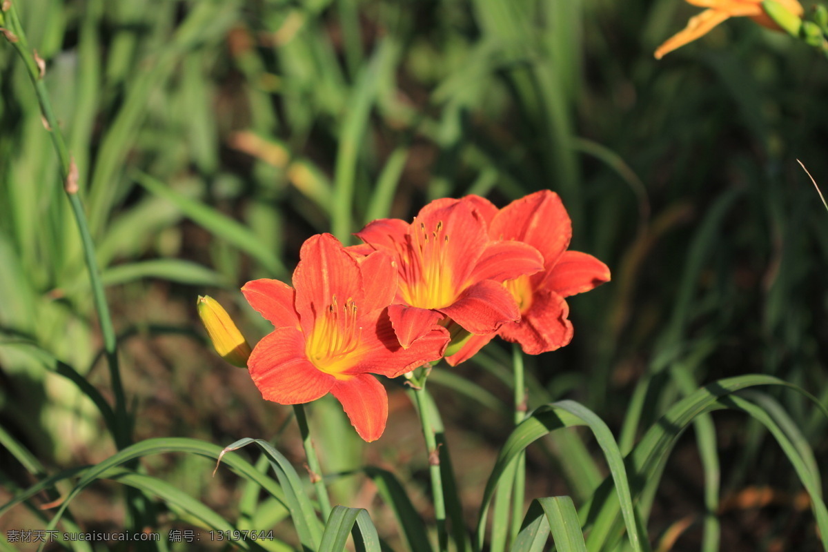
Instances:
[[[437,199],[423,207],[411,226],[412,233],[431,235],[438,224],[444,228],[445,264],[450,270],[452,282],[460,290],[466,285],[469,274],[483,254],[489,238],[486,224],[470,204],[457,199]]]

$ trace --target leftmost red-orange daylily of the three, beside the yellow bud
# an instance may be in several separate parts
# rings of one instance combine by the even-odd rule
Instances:
[[[409,348],[397,342],[386,307],[397,290],[392,257],[356,258],[330,234],[308,239],[293,286],[248,282],[242,292],[276,329],[250,355],[253,382],[268,401],[295,405],[329,391],[366,441],[388,418],[385,388],[370,374],[397,377],[443,355],[448,332],[430,329]]]

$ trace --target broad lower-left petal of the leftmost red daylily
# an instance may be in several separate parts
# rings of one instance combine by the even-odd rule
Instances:
[[[281,405],[315,401],[336,381],[310,363],[305,335],[295,328],[277,328],[262,338],[248,359],[248,370],[262,396]]]

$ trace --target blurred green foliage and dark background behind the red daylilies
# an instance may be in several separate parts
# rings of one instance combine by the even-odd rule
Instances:
[[[483,194],[503,205],[546,188],[570,211],[574,248],[602,259],[614,278],[571,301],[570,347],[527,358],[531,406],[573,396],[608,420],[626,453],[679,396],[721,377],[763,373],[828,401],[828,217],[796,163],[826,190],[828,71],[782,33],[732,21],[656,62],[652,51],[696,8],[678,0],[16,7],[46,61],[79,169],[138,437],[272,439],[287,415],[259,404],[245,374],[209,375],[224,367],[190,343],[202,339],[196,295],[234,301],[255,341],[267,323],[238,287],[288,279],[310,234],[353,242],[349,234],[368,220],[409,218],[429,199]],[[6,342],[34,343],[106,389],[55,152],[31,82],[3,46],[0,330]],[[112,445],[89,393],[52,374],[34,350],[0,345],[0,426],[49,468],[99,461]],[[453,372],[435,378],[446,425],[468,443],[455,447],[502,441],[505,429],[469,413],[503,398],[504,364],[493,345],[459,369],[479,386],[452,380]],[[689,386],[676,371],[691,374]],[[801,397],[774,396],[824,459],[826,420]],[[365,454],[398,462],[390,447],[334,439],[350,430],[337,408],[323,402],[312,420],[327,469],[353,470]],[[790,469],[780,475],[784,456],[758,422],[721,420],[698,434],[699,450],[713,451],[699,471],[710,481],[720,470],[722,488],[707,487],[704,499],[657,498],[683,506],[665,506],[654,534],[675,511],[710,509],[747,485],[799,489]],[[547,447],[546,461],[561,468],[578,503],[600,481],[599,468],[567,435]],[[697,463],[695,454],[685,461]],[[186,462],[157,469],[179,474],[208,503],[243,492],[226,482],[227,496],[209,496]],[[530,459],[530,473],[546,469],[537,462]],[[421,477],[407,469],[399,468],[403,480]],[[686,477],[667,468],[669,481]],[[2,478],[9,489],[24,479],[18,468]],[[334,495],[347,503],[360,489],[344,478]],[[256,497],[249,488],[243,496],[249,522]],[[774,513],[757,535],[725,531],[724,542],[741,540],[739,550],[816,542],[810,518],[793,508]],[[275,522],[284,511],[262,516]]]

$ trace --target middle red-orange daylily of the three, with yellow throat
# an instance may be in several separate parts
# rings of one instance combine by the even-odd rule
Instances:
[[[479,213],[489,207],[476,196],[436,199],[411,224],[385,218],[357,233],[367,244],[357,251],[386,251],[397,264],[399,286],[388,316],[402,347],[446,317],[472,334],[520,319],[501,282],[541,270],[543,260],[525,243],[489,240]]]

